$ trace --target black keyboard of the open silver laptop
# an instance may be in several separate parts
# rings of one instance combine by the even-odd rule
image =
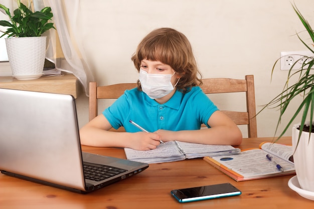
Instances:
[[[118,175],[120,173],[125,172],[126,170],[106,166],[106,165],[98,165],[93,163],[84,162],[84,177],[89,180],[101,181],[106,178],[110,178],[112,176]]]

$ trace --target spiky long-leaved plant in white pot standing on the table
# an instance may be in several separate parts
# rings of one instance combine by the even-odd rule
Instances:
[[[309,23],[304,19],[301,13],[298,11],[296,6],[292,5],[296,15],[302,22],[309,35],[312,44],[308,46],[297,34],[298,39],[305,47],[314,53],[314,32],[311,29]],[[278,59],[280,60],[280,58]],[[275,62],[274,67],[278,60]],[[300,60],[296,61],[299,62]],[[287,76],[286,83],[283,91],[271,100],[265,107],[274,107],[280,109],[279,119],[276,127],[276,131],[280,122],[282,122],[282,116],[285,113],[287,107],[292,100],[299,100],[300,95],[302,101],[295,113],[289,119],[282,133],[276,139],[280,139],[283,134],[287,131],[289,126],[293,123],[293,120],[300,113],[301,121],[292,127],[292,147],[294,150],[293,158],[297,180],[300,184],[301,189],[314,192],[314,126],[313,126],[313,115],[314,115],[314,57],[304,57],[302,59],[302,67],[295,72],[292,71],[293,66],[290,68]],[[272,69],[272,72],[274,70]],[[297,81],[290,85],[289,81],[291,78],[296,77]],[[296,98],[297,96],[297,98]],[[264,109],[263,108],[263,109]],[[262,109],[262,110],[263,110]]]

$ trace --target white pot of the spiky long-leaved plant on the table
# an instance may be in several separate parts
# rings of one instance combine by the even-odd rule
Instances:
[[[295,150],[299,130],[296,129],[300,123],[292,127],[292,147]],[[302,132],[301,138],[293,154],[297,180],[302,189],[314,191],[314,133],[308,140],[308,132]]]

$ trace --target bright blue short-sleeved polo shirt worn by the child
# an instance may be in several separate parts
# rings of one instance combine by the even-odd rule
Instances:
[[[159,129],[180,131],[198,130],[207,125],[210,116],[218,108],[201,90],[176,91],[169,101],[159,104],[137,88],[126,90],[110,107],[103,111],[113,128],[123,126],[126,132],[138,132],[129,120],[134,121],[148,132]]]

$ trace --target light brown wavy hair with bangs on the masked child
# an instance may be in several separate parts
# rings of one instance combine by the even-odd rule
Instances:
[[[144,59],[171,66],[181,76],[177,89],[182,92],[202,85],[202,75],[197,68],[191,44],[184,34],[174,29],[155,29],[144,37],[131,58],[138,72]],[[139,81],[137,84],[138,89],[141,89]]]

